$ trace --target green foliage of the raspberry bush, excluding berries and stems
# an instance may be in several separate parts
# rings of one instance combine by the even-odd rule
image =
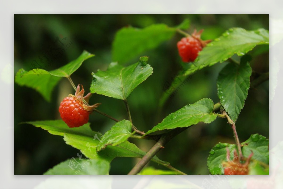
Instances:
[[[125,27],[119,30],[113,42],[113,60],[106,71],[98,70],[92,73],[91,93],[127,100],[132,91],[146,80],[153,68],[147,63],[148,57],[140,57],[137,63],[124,67],[123,64],[146,50],[153,49],[165,40],[169,40],[179,29],[187,29],[189,21],[185,20],[177,27],[168,27],[165,24],[156,24],[144,29]],[[246,31],[242,28],[231,28],[219,38],[216,38],[199,53],[197,66],[190,66],[185,76],[205,66],[212,66],[218,62],[224,62],[237,54],[242,56],[240,63],[230,63],[220,71],[217,80],[218,96],[221,105],[228,112],[233,121],[236,121],[250,88],[250,76],[252,70],[249,64],[250,57],[243,56],[256,45],[269,43],[268,31],[258,29]],[[76,60],[52,71],[20,69],[15,77],[15,82],[21,86],[31,87],[50,101],[52,89],[62,77],[69,78],[83,61],[94,55],[83,51]],[[202,66],[200,66],[202,65]],[[203,66],[204,65],[204,66]],[[39,74],[40,73],[40,74]],[[185,77],[183,76],[183,77]],[[174,85],[172,83],[172,85]],[[160,104],[168,98],[164,93]],[[147,131],[145,135],[160,130],[171,130],[180,127],[189,127],[199,122],[211,123],[218,114],[214,112],[214,102],[209,98],[199,100],[194,104],[188,104],[171,113],[163,121]],[[79,128],[68,128],[61,120],[27,122],[36,127],[47,130],[50,134],[63,136],[68,145],[79,149],[86,157],[82,159],[72,158],[53,167],[45,174],[109,174],[110,162],[116,157],[143,157],[146,153],[135,144],[128,142],[128,138],[134,135],[132,123],[128,120],[117,122],[101,138],[98,133],[92,131],[87,123]],[[226,158],[226,147],[233,150],[236,145],[219,143],[210,152],[207,165],[211,174],[223,174],[221,166]],[[256,165],[268,165],[268,139],[258,134],[252,135],[243,143],[243,155],[247,157],[250,150],[254,152],[253,162]],[[168,162],[154,156],[151,161],[170,168]],[[83,165],[83,166],[82,166]],[[266,166],[252,171],[253,174],[266,174]],[[84,168],[82,168],[84,167]],[[80,171],[78,169],[80,168]],[[253,169],[255,170],[255,169]],[[140,174],[178,174],[172,171],[143,169]],[[268,170],[267,170],[268,173]]]

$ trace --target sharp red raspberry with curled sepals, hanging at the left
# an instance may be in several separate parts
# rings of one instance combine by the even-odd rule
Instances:
[[[89,114],[94,108],[97,108],[100,103],[92,106],[83,104],[83,99],[88,103],[91,93],[83,97],[84,89],[80,91],[80,85],[77,87],[75,96],[70,94],[64,98],[59,106],[60,116],[68,127],[79,127],[86,124],[89,120]]]

